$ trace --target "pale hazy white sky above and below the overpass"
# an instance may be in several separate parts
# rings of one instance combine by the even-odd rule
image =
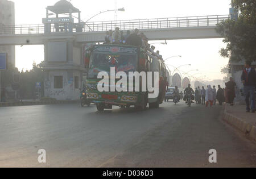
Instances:
[[[46,17],[46,7],[57,2],[57,0],[13,1],[15,2],[16,24],[42,24],[42,18]],[[117,13],[117,20],[227,15],[230,7],[230,0],[72,0],[71,2],[80,9],[81,19],[84,21],[100,11],[113,10],[115,7],[125,7],[125,12]],[[114,19],[115,13],[109,12],[96,16],[91,21]],[[156,49],[160,50],[164,58],[174,55],[183,56],[170,59],[167,64],[174,66],[192,64],[181,70],[199,69],[212,80],[224,77],[220,73],[220,68],[228,64],[228,59],[222,58],[218,53],[222,47],[225,47],[222,39],[168,40],[167,43],[167,45],[155,44]],[[43,45],[16,47],[16,66],[20,70],[31,69],[33,61],[40,63],[43,60]],[[191,74],[195,73],[191,72]],[[199,76],[200,74],[197,75]]]

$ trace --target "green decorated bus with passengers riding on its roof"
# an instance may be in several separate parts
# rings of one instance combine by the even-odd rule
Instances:
[[[135,106],[145,110],[148,103],[150,108],[158,108],[163,102],[167,85],[166,65],[151,52],[116,44],[94,45],[86,52],[90,57],[86,65],[86,95],[96,103],[98,111],[113,106]]]

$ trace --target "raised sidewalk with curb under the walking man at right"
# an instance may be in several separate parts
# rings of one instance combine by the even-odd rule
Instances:
[[[256,113],[246,113],[245,105],[225,105],[223,120],[256,141]]]

